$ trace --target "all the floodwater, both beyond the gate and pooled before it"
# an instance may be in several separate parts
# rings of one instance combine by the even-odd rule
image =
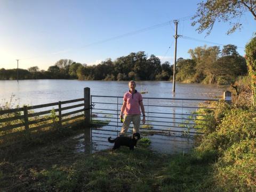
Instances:
[[[3,105],[4,102],[9,102],[11,98],[12,106],[33,106],[83,98],[84,87],[90,87],[91,95],[108,95],[117,97],[123,97],[123,94],[129,90],[128,82],[77,81],[63,79],[23,80],[19,82],[0,81],[0,105]],[[226,87],[217,87],[216,85],[176,83],[175,93],[172,93],[172,83],[162,81],[138,81],[136,87],[139,92],[148,92],[143,94],[143,98],[183,99],[219,98],[223,91],[225,91],[225,88]],[[106,98],[97,99],[98,102],[106,101]],[[147,103],[149,102],[148,100],[145,99],[143,102],[145,104],[150,104]],[[118,103],[122,103],[122,99],[119,99]],[[159,103],[165,104],[166,100],[159,100],[157,105]],[[103,108],[104,105],[100,107]],[[116,109],[116,106],[114,108]],[[121,108],[121,106],[118,106],[118,108]],[[154,109],[157,109],[157,107],[154,107]],[[150,109],[147,108],[146,110]],[[161,111],[161,109],[157,110]],[[186,111],[176,111],[176,113],[181,112],[186,113]],[[85,131],[86,133],[75,137],[78,140],[76,151],[84,152],[90,150],[91,153],[93,153],[94,151],[111,148],[113,143],[108,143],[107,138],[117,137],[120,127],[103,126],[100,129],[88,130],[90,131]],[[142,137],[148,137],[151,140],[151,149],[161,151],[163,153],[187,153],[187,151],[193,148],[194,143],[193,138],[180,137],[178,134],[142,134]],[[88,146],[90,147],[88,148]]]

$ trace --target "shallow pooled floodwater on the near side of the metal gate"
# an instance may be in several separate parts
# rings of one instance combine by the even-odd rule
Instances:
[[[113,143],[108,142],[108,137],[116,138],[118,133],[119,131],[108,130],[106,127],[102,127],[101,129],[85,129],[84,133],[73,137],[73,139],[78,141],[75,151],[77,153],[91,154],[100,150],[111,149]],[[128,135],[131,134],[131,132],[128,133]],[[141,137],[148,137],[151,141],[150,149],[159,153],[188,153],[194,145],[193,137],[182,137],[172,133],[141,133]]]

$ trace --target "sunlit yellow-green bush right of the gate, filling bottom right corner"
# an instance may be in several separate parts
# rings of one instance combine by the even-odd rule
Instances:
[[[219,109],[214,111],[216,129],[195,150],[199,158],[217,161],[214,182],[207,182],[213,191],[255,191],[256,111],[226,108],[220,113]]]

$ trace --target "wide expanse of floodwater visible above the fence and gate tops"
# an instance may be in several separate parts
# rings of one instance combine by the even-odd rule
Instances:
[[[116,81],[77,81],[63,79],[0,81],[0,99],[9,101],[14,94],[19,105],[40,105],[57,101],[83,98],[84,87],[90,87],[92,95],[111,95],[123,97],[129,90],[128,82]],[[215,85],[176,83],[175,94],[171,82],[141,81],[136,89],[148,91],[145,97],[157,98],[202,98],[219,97],[224,88]],[[144,96],[144,95],[143,95]]]

